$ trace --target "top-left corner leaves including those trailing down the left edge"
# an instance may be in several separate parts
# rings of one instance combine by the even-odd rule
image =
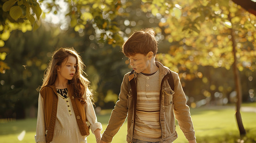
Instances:
[[[9,49],[4,46],[13,30],[22,32],[36,30],[42,13],[36,0],[1,0],[0,1],[0,73],[10,67],[4,62]]]

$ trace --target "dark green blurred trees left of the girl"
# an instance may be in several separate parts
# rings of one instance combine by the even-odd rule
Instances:
[[[0,118],[24,118],[25,111],[35,108],[39,85],[54,45],[51,32],[12,31],[6,46],[10,49],[6,63],[11,69],[0,74]],[[36,91],[37,90],[37,91]]]

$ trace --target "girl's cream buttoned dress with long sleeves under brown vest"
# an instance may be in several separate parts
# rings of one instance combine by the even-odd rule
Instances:
[[[56,123],[54,127],[53,141],[50,143],[87,143],[86,136],[81,135],[78,123],[75,117],[75,112],[70,101],[58,96]],[[67,102],[68,101],[68,102]],[[69,105],[69,107],[68,107]],[[91,132],[94,133],[96,129],[102,130],[101,123],[97,122],[97,117],[93,109],[93,105],[89,98],[87,98],[86,117],[90,124]],[[39,93],[38,99],[38,114],[36,124],[36,143],[46,143],[45,141],[45,121],[44,121],[44,101]]]

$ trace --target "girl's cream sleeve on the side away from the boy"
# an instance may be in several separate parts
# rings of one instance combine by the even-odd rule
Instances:
[[[38,98],[38,112],[37,112],[37,123],[36,123],[36,135],[34,136],[36,143],[46,143],[45,139],[45,117],[44,117],[44,100],[39,93]]]

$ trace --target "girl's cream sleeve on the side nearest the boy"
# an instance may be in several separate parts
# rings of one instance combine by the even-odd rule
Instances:
[[[86,104],[86,118],[90,124],[90,130],[94,134],[94,131],[97,129],[102,130],[101,123],[97,121],[97,117],[93,108],[93,104],[89,98],[87,98]]]

